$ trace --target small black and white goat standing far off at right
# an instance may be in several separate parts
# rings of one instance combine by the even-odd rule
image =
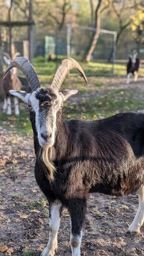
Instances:
[[[134,81],[137,82],[139,71],[139,58],[137,57],[137,52],[133,52],[130,54],[128,63],[127,63],[127,81],[126,83],[130,83],[130,74],[134,75]]]

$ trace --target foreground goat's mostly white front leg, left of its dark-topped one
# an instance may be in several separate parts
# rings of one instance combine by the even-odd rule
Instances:
[[[58,229],[60,227],[60,214],[61,214],[62,204],[58,201],[50,204],[50,233],[48,244],[45,247],[41,256],[54,256],[55,251],[58,248]]]

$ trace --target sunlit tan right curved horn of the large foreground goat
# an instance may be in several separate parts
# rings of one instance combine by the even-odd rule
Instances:
[[[50,87],[56,91],[59,91],[67,73],[69,73],[71,69],[77,69],[81,73],[84,80],[87,82],[86,76],[84,75],[84,71],[82,70],[81,65],[79,65],[79,63],[76,62],[76,60],[68,58],[63,60],[60,67],[58,67],[58,70],[54,75],[54,79],[52,80],[52,84]]]

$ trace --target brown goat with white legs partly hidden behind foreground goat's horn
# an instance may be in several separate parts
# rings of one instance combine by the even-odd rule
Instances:
[[[9,54],[3,53],[3,60],[6,65],[10,64]],[[14,56],[20,55],[19,52],[16,52]],[[11,115],[11,99],[9,95],[9,90],[20,90],[22,88],[22,83],[20,79],[18,79],[17,71],[15,68],[9,71],[9,74],[5,79],[1,79],[0,81],[0,94],[4,99],[3,103],[3,111],[7,112],[7,115]],[[14,113],[15,115],[20,115],[19,106],[18,106],[18,98],[14,97]]]

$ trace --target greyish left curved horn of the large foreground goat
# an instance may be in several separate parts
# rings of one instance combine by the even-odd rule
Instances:
[[[18,69],[20,69],[22,73],[26,75],[27,81],[29,82],[32,91],[37,90],[37,88],[41,87],[41,84],[39,82],[37,74],[35,73],[35,70],[33,69],[33,66],[26,58],[16,57],[15,60],[12,60],[3,75],[4,78],[10,71],[10,69],[12,69],[12,67],[18,67]]]

